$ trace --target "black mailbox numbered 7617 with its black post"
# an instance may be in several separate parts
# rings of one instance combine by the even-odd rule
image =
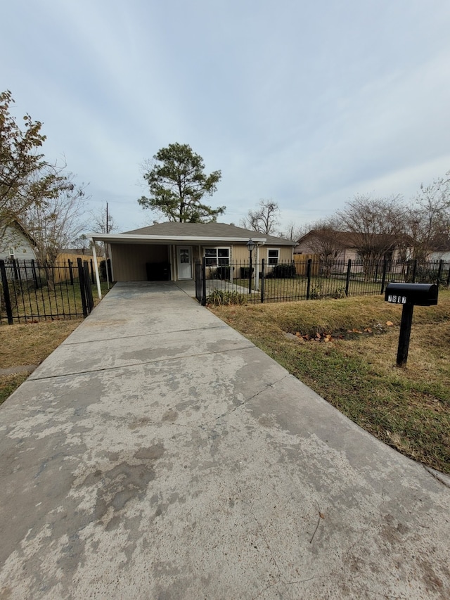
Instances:
[[[386,302],[399,304],[401,312],[397,366],[405,366],[408,358],[409,338],[413,322],[413,309],[417,306],[437,305],[439,288],[436,283],[388,283],[385,291]]]

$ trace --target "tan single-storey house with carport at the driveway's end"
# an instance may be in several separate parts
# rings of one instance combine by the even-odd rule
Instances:
[[[264,258],[270,269],[293,260],[295,243],[225,223],[166,222],[124,234],[88,234],[108,243],[114,281],[158,281],[195,278],[195,262],[203,260],[210,271],[249,260],[247,242],[257,245],[254,263]],[[234,274],[238,276],[238,274]]]

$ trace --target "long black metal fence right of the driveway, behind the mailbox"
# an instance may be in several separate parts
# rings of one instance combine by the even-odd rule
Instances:
[[[383,294],[390,281],[450,285],[450,262],[377,262],[302,260],[268,264],[266,261],[211,264],[195,269],[198,301],[289,302]]]

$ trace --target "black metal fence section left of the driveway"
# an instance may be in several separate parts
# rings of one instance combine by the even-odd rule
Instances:
[[[0,324],[87,317],[94,307],[91,262],[51,266],[34,260],[0,260]]]

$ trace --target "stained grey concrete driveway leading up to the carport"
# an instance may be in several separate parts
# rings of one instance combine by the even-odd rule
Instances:
[[[117,284],[0,452],[1,599],[450,597],[449,479],[174,283]]]

